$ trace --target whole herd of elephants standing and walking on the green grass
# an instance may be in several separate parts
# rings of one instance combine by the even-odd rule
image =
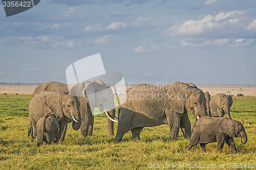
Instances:
[[[32,94],[28,136],[37,136],[38,147],[43,141],[57,143],[64,140],[71,122],[74,130],[80,128],[81,136],[91,136],[93,110],[97,107],[109,118],[110,136],[114,136],[114,122],[118,122],[114,142],[120,142],[129,131],[133,139],[140,139],[144,127],[166,124],[170,139],[177,140],[179,129],[185,138],[190,139],[186,150],[200,144],[205,152],[207,143],[218,141],[218,151],[226,142],[232,153],[236,153],[233,137],[241,137],[241,144],[245,144],[247,135],[244,126],[231,119],[231,105],[230,95],[219,93],[210,99],[208,92],[204,93],[193,83],[139,84],[128,88],[123,94],[116,117],[112,89],[101,80],[84,81],[71,89],[67,84],[48,82],[37,86]],[[193,131],[187,112],[197,119]],[[226,117],[223,117],[224,114]]]

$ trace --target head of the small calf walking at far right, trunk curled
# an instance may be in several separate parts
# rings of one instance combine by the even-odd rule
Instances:
[[[230,137],[241,137],[240,143],[245,144],[247,142],[247,135],[244,126],[237,120],[229,118],[222,118],[220,120],[220,130]],[[244,141],[243,141],[244,138]]]

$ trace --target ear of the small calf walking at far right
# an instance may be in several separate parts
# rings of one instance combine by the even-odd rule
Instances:
[[[219,126],[220,126],[220,130],[227,134],[230,137],[236,137],[236,134],[234,133],[234,124],[233,124],[234,120],[231,120],[229,118],[223,117],[220,120]]]

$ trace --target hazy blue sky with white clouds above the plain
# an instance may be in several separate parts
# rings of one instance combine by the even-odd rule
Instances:
[[[254,0],[43,0],[10,17],[0,6],[0,29],[0,82],[66,83],[100,53],[126,83],[256,84]]]

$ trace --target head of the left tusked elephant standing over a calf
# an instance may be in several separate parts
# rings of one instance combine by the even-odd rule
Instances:
[[[64,91],[52,91],[45,96],[45,103],[58,119],[66,116],[72,119],[74,130],[80,128],[79,101],[75,96]]]

